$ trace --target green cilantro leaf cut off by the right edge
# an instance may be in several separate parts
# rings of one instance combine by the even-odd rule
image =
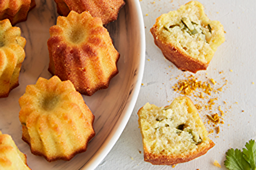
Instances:
[[[244,159],[249,162],[251,169],[256,169],[256,144],[254,140],[249,140],[249,142],[246,142],[245,148],[243,148],[243,157]]]

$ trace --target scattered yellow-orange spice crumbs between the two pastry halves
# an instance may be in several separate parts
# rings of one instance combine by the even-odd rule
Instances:
[[[230,71],[232,70],[230,69]],[[219,73],[223,74],[223,72],[224,71],[220,71]],[[174,78],[171,80],[173,79]],[[184,73],[175,77],[175,79],[177,79],[178,82],[172,86],[174,91],[190,96],[191,100],[195,101],[194,105],[197,110],[200,113],[204,113],[202,118],[204,118],[205,123],[209,125],[208,133],[219,134],[220,127],[218,125],[224,124],[224,116],[228,115],[225,110],[230,109],[231,107],[220,105],[216,106],[217,104],[220,104],[218,102],[218,96],[227,88],[225,87],[228,83],[226,78],[223,77],[220,79],[221,81],[216,82],[214,79],[209,78],[205,72],[200,75]],[[223,101],[223,104],[227,105],[227,102]]]

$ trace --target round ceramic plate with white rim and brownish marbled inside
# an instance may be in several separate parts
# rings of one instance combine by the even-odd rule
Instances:
[[[88,150],[70,161],[47,162],[43,157],[31,154],[22,138],[22,126],[18,119],[18,99],[29,84],[39,77],[51,78],[48,72],[49,55],[47,40],[49,28],[56,23],[54,1],[36,1],[36,8],[29,12],[28,20],[18,23],[22,36],[27,39],[26,58],[20,71],[19,86],[8,98],[0,99],[0,130],[10,134],[20,151],[27,155],[32,169],[94,169],[109,153],[121,135],[134,109],[141,86],[145,60],[145,34],[139,1],[127,0],[120,10],[118,20],[107,28],[114,41],[120,59],[119,74],[108,89],[97,91],[92,96],[83,96],[95,115],[96,136],[89,142]]]

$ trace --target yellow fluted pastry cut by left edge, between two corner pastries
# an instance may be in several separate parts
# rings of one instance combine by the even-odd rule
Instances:
[[[10,91],[19,85],[26,39],[20,37],[20,29],[12,27],[9,19],[0,21],[0,35],[0,98],[7,98]]]

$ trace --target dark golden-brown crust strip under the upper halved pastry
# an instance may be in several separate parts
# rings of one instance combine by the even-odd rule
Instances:
[[[154,37],[159,37],[156,26],[151,28],[150,31]],[[160,38],[155,38],[154,42],[161,49],[164,57],[181,70],[196,73],[199,70],[206,70],[209,65],[186,55],[172,43],[165,43]]]

